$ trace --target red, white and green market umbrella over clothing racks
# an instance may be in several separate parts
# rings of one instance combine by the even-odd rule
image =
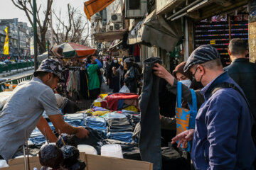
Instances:
[[[62,51],[64,57],[87,57],[88,55],[93,55],[96,51],[94,48],[73,42],[65,42],[58,45],[56,49],[59,54]]]

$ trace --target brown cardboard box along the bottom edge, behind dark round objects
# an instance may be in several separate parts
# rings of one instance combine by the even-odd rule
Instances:
[[[120,159],[114,157],[103,157],[100,155],[80,153],[80,159],[86,163],[85,170],[153,170],[153,164],[149,162],[140,162],[130,159]],[[38,157],[30,157],[30,169],[41,168]],[[24,159],[10,159],[8,168],[0,170],[23,170]]]

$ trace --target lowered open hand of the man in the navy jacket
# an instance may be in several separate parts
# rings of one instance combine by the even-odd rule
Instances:
[[[182,146],[185,146],[186,142],[193,139],[194,132],[195,132],[194,129],[190,129],[190,130],[181,132],[180,134],[176,135],[176,137],[171,139],[171,143],[174,144],[175,142],[178,141],[178,147],[180,147],[181,144],[182,144]]]

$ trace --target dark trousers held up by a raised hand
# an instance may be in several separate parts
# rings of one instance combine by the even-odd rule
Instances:
[[[139,150],[143,161],[153,163],[154,170],[161,170],[161,125],[159,118],[159,77],[152,67],[161,64],[160,57],[144,60],[144,86],[139,106],[142,112]]]

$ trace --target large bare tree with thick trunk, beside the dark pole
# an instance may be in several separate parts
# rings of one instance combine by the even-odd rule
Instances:
[[[26,13],[26,16],[28,17],[28,21],[31,23],[31,26],[33,26],[33,5],[31,0],[11,0],[13,4],[23,10]],[[41,53],[46,51],[46,32],[48,30],[48,25],[50,23],[49,15],[50,15],[50,8],[53,4],[53,0],[46,0],[47,1],[47,7],[46,10],[43,11],[44,16],[43,20],[41,21],[41,18],[39,17],[39,12],[41,10],[41,5],[36,10],[36,18],[37,18],[37,25],[39,28],[39,34],[41,35],[40,38],[38,36],[37,42],[39,45],[39,50]]]

